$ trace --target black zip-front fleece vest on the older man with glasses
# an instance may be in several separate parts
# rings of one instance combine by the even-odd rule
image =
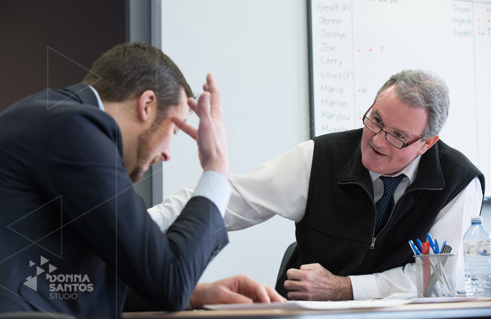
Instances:
[[[414,182],[375,234],[373,184],[362,164],[363,128],[314,138],[305,216],[296,224],[297,248],[286,270],[319,263],[338,276],[366,275],[414,262],[408,241],[426,240],[440,210],[483,174],[459,151],[438,141],[421,156]]]

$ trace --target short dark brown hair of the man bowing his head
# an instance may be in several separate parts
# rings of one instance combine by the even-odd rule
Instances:
[[[181,90],[194,97],[179,68],[162,50],[150,44],[118,44],[104,53],[83,79],[92,85],[101,100],[122,102],[137,98],[146,90],[157,96],[159,119],[167,117],[170,106],[181,103]]]

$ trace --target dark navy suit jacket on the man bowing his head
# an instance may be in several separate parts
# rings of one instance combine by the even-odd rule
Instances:
[[[180,310],[228,243],[204,197],[160,232],[126,173],[119,127],[97,105],[80,83],[0,113],[0,312],[113,318],[127,285]]]

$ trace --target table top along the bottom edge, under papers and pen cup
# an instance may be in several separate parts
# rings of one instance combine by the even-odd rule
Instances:
[[[375,319],[375,318],[470,318],[491,317],[491,301],[457,302],[439,304],[407,304],[389,308],[365,308],[344,310],[195,310],[177,312],[125,312],[123,319],[196,319],[196,318],[288,318],[309,319]]]

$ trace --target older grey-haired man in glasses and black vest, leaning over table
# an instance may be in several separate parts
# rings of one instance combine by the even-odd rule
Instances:
[[[378,90],[364,127],[317,136],[243,176],[230,174],[229,231],[275,214],[296,222],[297,246],[276,289],[294,300],[416,292],[409,240],[447,240],[463,277],[462,237],[479,216],[483,174],[439,140],[448,87],[406,70]],[[194,187],[149,210],[163,231]]]

